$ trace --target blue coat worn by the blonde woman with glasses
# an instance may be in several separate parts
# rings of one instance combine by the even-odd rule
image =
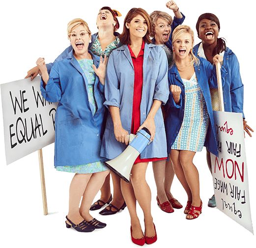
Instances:
[[[99,57],[93,54],[93,63]],[[103,160],[100,157],[104,126],[104,86],[95,77],[94,97],[97,111],[93,115],[88,100],[88,80],[71,51],[66,59],[54,64],[43,97],[59,102],[55,115],[55,166],[84,165]]]

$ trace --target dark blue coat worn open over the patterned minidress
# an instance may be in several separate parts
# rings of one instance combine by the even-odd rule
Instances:
[[[214,127],[210,94],[210,87],[218,87],[216,69],[213,68],[213,65],[204,58],[199,58],[199,65],[194,64],[194,68],[210,119],[204,146],[206,146],[211,153],[218,156],[216,132]],[[222,79],[224,79],[227,75],[227,71],[223,66],[221,71]],[[168,72],[168,80],[169,85],[175,84],[181,88],[179,105],[175,104],[171,93],[169,96],[168,103],[166,104],[165,126],[167,136],[167,150],[169,154],[171,151],[171,145],[175,141],[175,138],[177,137],[179,130],[181,128],[185,108],[185,87],[175,64],[171,67],[171,69]]]

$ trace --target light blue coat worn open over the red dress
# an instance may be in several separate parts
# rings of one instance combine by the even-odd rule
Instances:
[[[154,99],[165,104],[169,96],[168,62],[165,51],[156,45],[145,44],[143,60],[143,86],[141,101],[141,125],[145,121]],[[104,105],[120,109],[122,127],[131,133],[134,67],[127,45],[115,49],[107,66]],[[167,157],[166,134],[161,108],[155,115],[154,141],[141,154],[141,158]],[[108,114],[100,155],[107,159],[118,156],[127,146],[114,137],[114,126]]]

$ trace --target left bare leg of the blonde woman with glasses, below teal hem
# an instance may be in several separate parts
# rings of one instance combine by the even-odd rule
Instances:
[[[79,204],[92,174],[75,174],[69,188],[68,219],[79,224],[84,220],[79,212]],[[68,221],[67,221],[68,222]],[[70,223],[71,224],[71,223]]]

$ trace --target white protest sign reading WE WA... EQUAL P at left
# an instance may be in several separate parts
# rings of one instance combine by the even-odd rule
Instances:
[[[7,165],[54,142],[57,104],[42,97],[40,79],[1,84]]]

